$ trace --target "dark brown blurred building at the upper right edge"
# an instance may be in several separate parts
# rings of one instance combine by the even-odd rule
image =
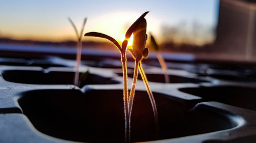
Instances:
[[[256,55],[256,1],[220,0],[216,50]]]

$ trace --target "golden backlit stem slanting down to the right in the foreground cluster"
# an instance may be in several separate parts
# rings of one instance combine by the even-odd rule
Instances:
[[[147,91],[147,94],[148,94],[148,97],[150,98],[150,102],[151,102],[151,105],[152,105],[152,108],[153,108],[153,113],[154,113],[154,118],[155,118],[155,127],[156,127],[156,137],[158,138],[158,135],[159,135],[159,126],[158,126],[158,112],[157,112],[157,105],[156,105],[156,101],[155,101],[155,98],[153,96],[153,93],[150,89],[150,85],[148,84],[148,80],[146,78],[146,74],[142,68],[142,64],[141,64],[141,61],[139,62],[139,71],[140,71],[140,75],[141,75],[141,78],[145,84],[145,88],[146,88],[146,91]]]

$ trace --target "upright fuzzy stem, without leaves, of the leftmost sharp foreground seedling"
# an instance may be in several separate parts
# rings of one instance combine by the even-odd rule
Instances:
[[[127,82],[127,66],[126,66],[126,53],[121,53],[121,62],[123,69],[123,104],[124,104],[124,120],[125,120],[125,133],[124,133],[124,141],[130,142],[130,115],[128,108],[128,82]]]

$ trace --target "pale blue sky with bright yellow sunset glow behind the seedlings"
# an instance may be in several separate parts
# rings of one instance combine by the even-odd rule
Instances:
[[[84,33],[95,31],[121,39],[127,28],[142,13],[150,11],[145,17],[147,32],[152,32],[156,39],[161,41],[163,26],[177,26],[183,23],[184,29],[191,31],[191,25],[196,21],[205,27],[215,27],[218,20],[218,4],[218,0],[1,1],[0,37],[47,41],[74,40],[75,34],[67,17],[71,17],[79,29],[83,18],[88,17]]]

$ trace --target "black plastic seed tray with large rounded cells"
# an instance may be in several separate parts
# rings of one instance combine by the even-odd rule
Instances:
[[[80,73],[90,74],[74,88],[73,60],[1,58],[0,142],[123,142],[121,63],[95,59],[81,62]],[[143,63],[159,134],[139,75],[132,142],[256,142],[253,68],[168,62],[164,83],[156,59]],[[130,87],[134,62],[127,65]]]

